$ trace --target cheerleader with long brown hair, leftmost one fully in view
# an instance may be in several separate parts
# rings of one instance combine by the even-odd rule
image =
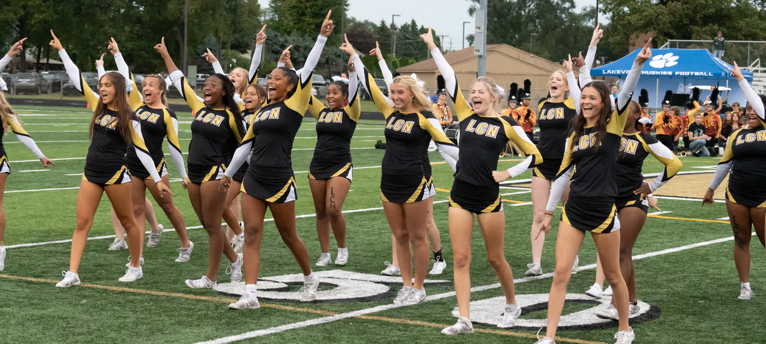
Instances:
[[[57,283],[56,287],[80,284],[77,270],[80,267],[80,258],[85,250],[88,231],[93,224],[93,216],[96,214],[103,192],[106,192],[109,197],[117,217],[128,234],[130,265],[125,276],[120,277],[119,281],[138,280],[143,277],[139,264],[143,242],[141,230],[133,216],[131,186],[128,184],[131,178],[126,169],[125,155],[130,143],[135,146],[136,156],[156,183],[159,195],[169,197],[173,194],[162,182],[149,149],[144,143],[139,118],[130,109],[125,77],[116,72],[107,73],[99,79],[99,93],[93,92],[52,30],[51,36],[53,36],[51,47],[58,51],[70,79],[93,109],[93,120],[90,123],[91,143],[85,158],[85,171],[83,180],[80,182],[80,191],[77,193],[77,226],[72,236],[69,271],[64,272],[64,280]]]

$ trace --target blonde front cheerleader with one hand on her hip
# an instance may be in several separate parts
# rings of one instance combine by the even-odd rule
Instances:
[[[469,319],[469,267],[474,214],[484,238],[487,260],[495,269],[506,296],[504,315],[498,327],[512,327],[521,314],[521,308],[516,306],[513,274],[503,253],[506,219],[502,211],[499,182],[542,162],[542,156],[515,120],[509,116],[500,116],[499,100],[502,93],[499,93],[493,80],[487,77],[476,79],[471,86],[469,104],[457,85],[454,70],[434,44],[430,28],[427,34],[421,34],[421,38],[434,56],[439,72],[444,75],[461,131],[460,159],[457,160],[457,172],[450,192],[450,240],[454,253],[454,283],[460,318],[455,325],[441,333],[473,333]],[[529,156],[521,164],[498,172],[498,157],[509,141],[516,143]]]

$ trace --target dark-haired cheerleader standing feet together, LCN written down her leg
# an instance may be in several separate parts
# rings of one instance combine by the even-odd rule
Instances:
[[[350,47],[349,47],[350,48]],[[342,47],[349,55],[354,51]],[[351,188],[353,164],[351,160],[351,138],[359,120],[361,106],[358,100],[358,80],[352,60],[349,59],[348,85],[342,80],[333,81],[327,87],[328,106],[316,97],[309,101],[309,112],[317,120],[316,149],[309,165],[309,186],[316,209],[316,233],[322,255],[316,266],[329,264],[330,228],[338,242],[335,264],[345,265],[349,261],[349,249],[345,247],[345,218],[342,208]],[[348,104],[348,105],[344,105]]]

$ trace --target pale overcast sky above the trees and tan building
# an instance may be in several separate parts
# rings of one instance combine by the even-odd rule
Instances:
[[[467,0],[346,0],[349,2],[349,13],[346,18],[354,17],[358,20],[368,20],[379,23],[385,19],[391,24],[391,15],[401,15],[394,18],[394,22],[401,25],[412,19],[417,25],[430,25],[437,34],[449,35],[444,37],[444,48],[457,50],[463,48],[463,21],[466,24],[466,35],[473,33],[474,19],[468,15],[470,2]],[[264,8],[269,6],[269,0],[258,0]],[[595,6],[596,0],[575,0],[580,11],[584,6]],[[335,14],[332,15],[336,17]],[[336,19],[333,19],[336,20]],[[603,20],[602,20],[603,21]],[[468,45],[468,42],[465,42]]]

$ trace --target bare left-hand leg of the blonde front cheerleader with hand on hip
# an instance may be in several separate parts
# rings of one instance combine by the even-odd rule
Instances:
[[[470,211],[450,207],[450,241],[452,242],[452,261],[454,271],[455,294],[460,316],[470,318],[471,301],[471,237],[473,233],[473,214]]]

